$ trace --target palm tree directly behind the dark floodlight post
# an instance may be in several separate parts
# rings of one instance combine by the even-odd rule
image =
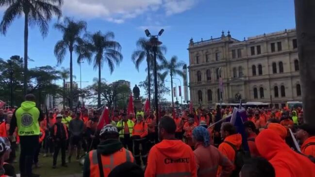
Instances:
[[[135,68],[139,71],[139,66],[140,64],[144,61],[144,59],[147,60],[147,69],[146,71],[148,72],[148,99],[149,102],[151,100],[151,89],[150,89],[150,84],[151,84],[151,77],[150,77],[150,71],[153,70],[153,67],[150,67],[151,65],[154,65],[154,58],[153,58],[153,50],[152,47],[147,44],[149,42],[148,39],[146,38],[139,38],[138,41],[136,42],[137,49],[133,51],[132,54],[132,61],[135,64]],[[160,61],[165,60],[164,54],[166,53],[166,47],[165,46],[159,46],[157,48],[156,52],[156,58]]]

